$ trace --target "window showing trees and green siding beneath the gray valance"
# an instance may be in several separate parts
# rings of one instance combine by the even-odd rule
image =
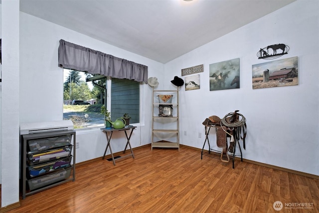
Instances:
[[[75,128],[103,127],[103,105],[110,106],[113,121],[128,113],[131,124],[140,122],[140,82],[69,69],[63,73],[63,119],[72,120]]]

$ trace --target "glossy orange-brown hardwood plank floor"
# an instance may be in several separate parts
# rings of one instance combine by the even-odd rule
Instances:
[[[284,213],[319,212],[319,180],[181,147],[134,151],[116,166],[100,160],[76,168],[76,181],[27,196],[8,213]],[[302,203],[302,204],[301,204]],[[305,205],[309,209],[287,209]],[[309,207],[309,206],[312,207]]]

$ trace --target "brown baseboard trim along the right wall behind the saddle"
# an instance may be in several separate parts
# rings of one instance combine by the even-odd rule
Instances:
[[[188,149],[194,149],[194,150],[198,150],[198,151],[201,152],[201,149],[199,149],[199,148],[190,147],[190,146],[186,146],[186,145],[182,145],[182,144],[180,144],[179,146],[187,147]],[[204,151],[208,152],[208,150],[204,150]],[[210,151],[210,152],[213,152],[213,151]],[[235,159],[240,160],[239,157],[235,157]],[[248,159],[244,159],[244,158],[243,158],[243,162],[247,162],[247,163],[250,163],[250,164],[255,164],[255,165],[259,165],[259,166],[263,166],[263,167],[267,167],[267,168],[271,168],[271,169],[276,169],[276,170],[280,170],[280,171],[283,171],[283,172],[289,172],[289,173],[292,173],[292,174],[301,175],[301,176],[305,176],[305,177],[308,177],[308,178],[313,178],[313,179],[319,180],[319,176],[318,175],[304,173],[304,172],[291,170],[291,169],[287,169],[287,168],[283,168],[283,167],[278,167],[278,166],[274,166],[274,165],[271,165],[271,164],[265,164],[265,163],[261,163],[261,162],[257,162],[257,161],[252,161],[252,160],[248,160]]]

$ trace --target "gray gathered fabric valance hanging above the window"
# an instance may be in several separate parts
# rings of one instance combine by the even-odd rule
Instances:
[[[120,79],[148,82],[148,66],[60,40],[59,67]]]

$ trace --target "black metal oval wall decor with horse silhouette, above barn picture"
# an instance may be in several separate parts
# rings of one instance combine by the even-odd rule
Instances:
[[[260,48],[257,52],[258,59],[270,60],[274,58],[279,58],[289,51],[289,46],[283,43],[273,44]]]

